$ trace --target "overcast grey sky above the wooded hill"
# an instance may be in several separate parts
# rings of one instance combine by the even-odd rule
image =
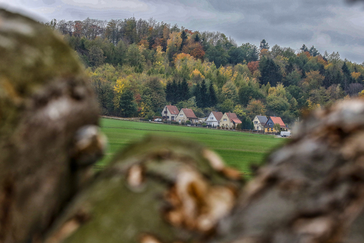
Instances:
[[[11,3],[9,3],[11,2]],[[220,31],[238,45],[259,47],[264,38],[298,50],[314,45],[321,54],[364,61],[364,3],[344,0],[0,0],[0,6],[40,21],[149,19],[189,30]]]

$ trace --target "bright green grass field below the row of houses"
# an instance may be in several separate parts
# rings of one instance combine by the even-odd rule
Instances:
[[[108,149],[96,167],[108,164],[112,156],[131,142],[146,135],[192,140],[217,152],[230,166],[249,175],[251,164],[261,164],[265,156],[288,139],[271,135],[250,134],[227,130],[125,121],[101,118],[102,132],[107,136]]]

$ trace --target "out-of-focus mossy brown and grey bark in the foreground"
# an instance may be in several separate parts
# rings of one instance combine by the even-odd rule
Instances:
[[[364,101],[309,114],[244,185],[150,137],[92,175],[98,106],[48,27],[0,11],[0,242],[364,242]]]

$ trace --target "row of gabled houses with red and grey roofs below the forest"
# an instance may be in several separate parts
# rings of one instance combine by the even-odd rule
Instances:
[[[167,121],[179,122],[179,124],[190,121],[191,124],[205,123],[208,126],[222,126],[225,128],[236,128],[237,124],[241,124],[241,121],[235,113],[211,111],[208,117],[198,118],[192,109],[182,108],[178,110],[177,106],[166,105],[162,110],[162,118]],[[253,119],[254,129],[265,132],[273,132],[274,124],[278,123],[281,126],[281,130],[288,131],[288,127],[284,124],[280,117],[272,116],[267,118],[265,115],[256,115]]]

